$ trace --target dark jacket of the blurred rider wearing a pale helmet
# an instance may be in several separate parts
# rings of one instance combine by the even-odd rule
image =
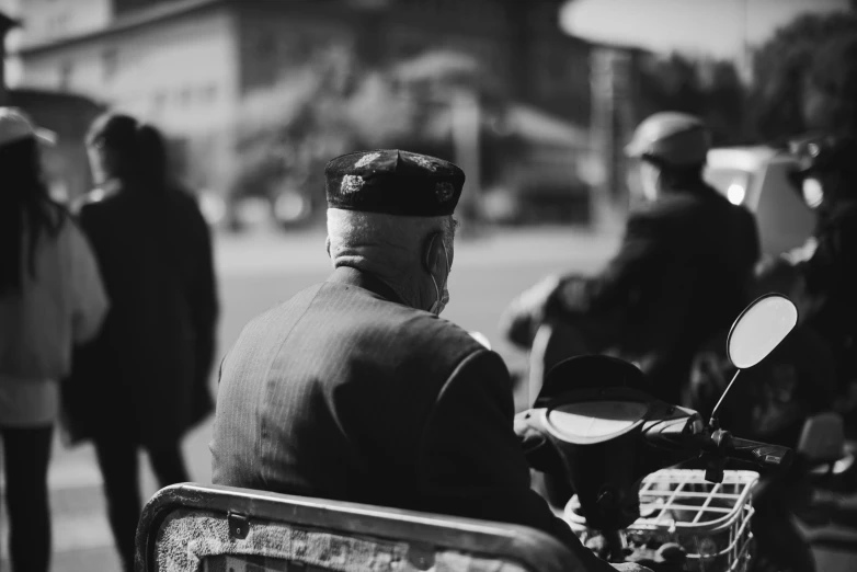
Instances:
[[[758,255],[754,217],[697,181],[630,216],[619,252],[594,277],[568,277],[556,308],[675,403],[696,350],[741,312]]]

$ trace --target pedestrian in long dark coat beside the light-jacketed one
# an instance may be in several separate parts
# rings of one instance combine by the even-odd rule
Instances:
[[[100,185],[79,206],[113,306],[78,352],[64,401],[71,439],[92,439],[110,520],[133,570],[141,510],[137,450],[161,485],[190,480],[181,439],[213,410],[208,389],[218,313],[209,229],[167,175],[163,139],[124,115],[93,124]]]

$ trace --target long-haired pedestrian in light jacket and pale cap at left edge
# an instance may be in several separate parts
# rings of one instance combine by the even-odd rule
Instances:
[[[0,436],[14,572],[48,570],[59,380],[73,343],[92,339],[107,311],[89,243],[48,195],[39,140],[53,138],[0,107]]]

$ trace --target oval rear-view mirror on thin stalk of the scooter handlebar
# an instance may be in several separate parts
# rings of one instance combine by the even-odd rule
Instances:
[[[798,308],[785,296],[768,294],[751,304],[732,324],[729,359],[739,369],[762,362],[798,323]]]

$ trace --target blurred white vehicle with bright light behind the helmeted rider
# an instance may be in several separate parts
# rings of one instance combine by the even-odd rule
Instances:
[[[722,147],[708,152],[705,179],[732,204],[756,215],[762,253],[776,255],[800,247],[812,234],[815,215],[789,180],[797,169],[785,150]]]

